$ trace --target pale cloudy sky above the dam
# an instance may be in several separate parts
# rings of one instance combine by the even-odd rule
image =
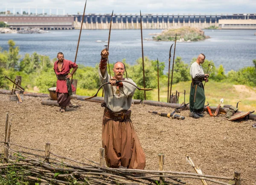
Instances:
[[[85,0],[1,0],[0,11],[7,9],[49,14],[77,14],[84,11]],[[244,14],[256,13],[256,0],[87,0],[86,14]]]

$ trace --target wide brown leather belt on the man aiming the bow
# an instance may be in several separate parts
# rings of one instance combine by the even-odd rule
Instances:
[[[131,110],[122,110],[118,112],[111,112],[107,108],[104,109],[104,117],[109,120],[123,121],[131,117]]]

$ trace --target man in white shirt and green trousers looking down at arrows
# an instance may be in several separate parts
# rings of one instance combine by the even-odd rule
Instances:
[[[190,67],[190,75],[192,77],[192,83],[190,87],[190,96],[189,96],[189,109],[191,116],[195,118],[203,117],[203,114],[200,114],[204,111],[204,85],[203,81],[208,82],[209,74],[204,74],[201,64],[204,63],[205,55],[199,54],[197,60],[192,63]]]

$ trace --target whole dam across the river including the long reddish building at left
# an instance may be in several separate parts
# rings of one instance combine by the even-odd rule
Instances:
[[[0,14],[3,21],[11,29],[41,28],[80,29],[82,15],[47,15],[47,14]],[[111,14],[86,14],[83,29],[109,29]],[[143,14],[143,29],[168,29],[190,26],[208,28],[209,26],[222,29],[256,29],[256,14],[232,15],[169,15]],[[140,15],[114,14],[112,29],[140,29]]]

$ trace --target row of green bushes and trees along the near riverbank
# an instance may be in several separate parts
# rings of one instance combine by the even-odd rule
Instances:
[[[40,92],[47,93],[48,88],[56,86],[56,76],[53,71],[55,59],[50,60],[49,56],[40,55],[36,52],[31,55],[25,54],[22,57],[19,54],[20,48],[15,46],[13,40],[9,40],[8,44],[8,51],[3,51],[0,48],[0,88],[9,89],[11,86],[11,83],[4,79],[5,75],[12,79],[16,75],[22,76],[22,86],[28,91],[32,91],[33,87],[37,86]],[[196,58],[193,58],[191,64],[195,61]],[[122,62],[125,63],[128,72],[127,77],[133,79],[138,86],[143,87],[142,58],[137,59],[135,65],[129,65],[125,62],[125,59]],[[202,65],[205,73],[207,73],[209,64],[212,66],[209,80],[256,86],[256,60],[253,60],[254,66],[244,67],[238,71],[231,70],[227,74],[223,65],[216,67],[212,60],[205,60]],[[150,60],[145,57],[144,65],[146,88],[157,88],[157,60]],[[167,66],[164,62],[159,63],[160,87],[167,87],[168,85],[168,74],[164,74],[165,67]],[[110,64],[110,68],[113,68],[113,64]],[[190,81],[189,68],[190,65],[184,63],[181,57],[177,57],[173,71],[173,84]],[[99,87],[98,64],[95,67],[85,67],[79,64],[74,79],[78,80],[77,88],[84,89],[83,94],[80,95],[92,95],[87,94],[86,89]],[[148,100],[150,96],[151,94],[148,92]],[[143,91],[135,92],[134,99],[143,100],[143,98]]]

